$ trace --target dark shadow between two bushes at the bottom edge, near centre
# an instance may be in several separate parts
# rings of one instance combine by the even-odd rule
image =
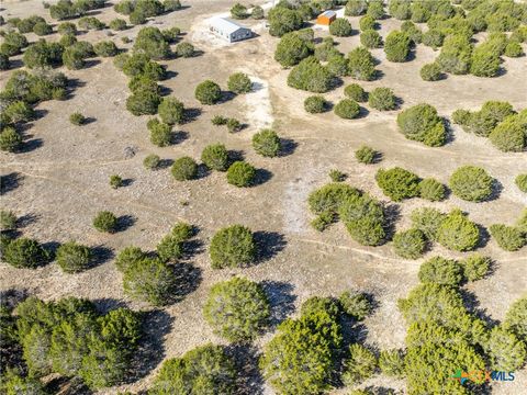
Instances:
[[[264,395],[264,377],[258,369],[259,352],[249,345],[231,345],[225,348],[233,358],[236,371],[235,395]]]

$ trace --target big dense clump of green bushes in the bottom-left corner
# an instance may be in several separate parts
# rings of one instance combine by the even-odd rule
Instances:
[[[47,303],[29,297],[15,312],[31,377],[58,373],[99,390],[122,383],[131,372],[142,336],[139,314],[124,307],[100,314],[91,302],[75,297]]]

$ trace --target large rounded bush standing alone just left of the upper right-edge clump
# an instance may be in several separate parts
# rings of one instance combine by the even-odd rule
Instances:
[[[447,138],[445,125],[437,114],[437,110],[426,103],[414,105],[399,113],[397,126],[406,138],[430,147],[444,145]]]

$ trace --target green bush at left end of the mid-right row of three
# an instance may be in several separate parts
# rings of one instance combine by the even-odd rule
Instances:
[[[379,169],[375,180],[382,192],[395,202],[419,195],[419,178],[403,168]]]

